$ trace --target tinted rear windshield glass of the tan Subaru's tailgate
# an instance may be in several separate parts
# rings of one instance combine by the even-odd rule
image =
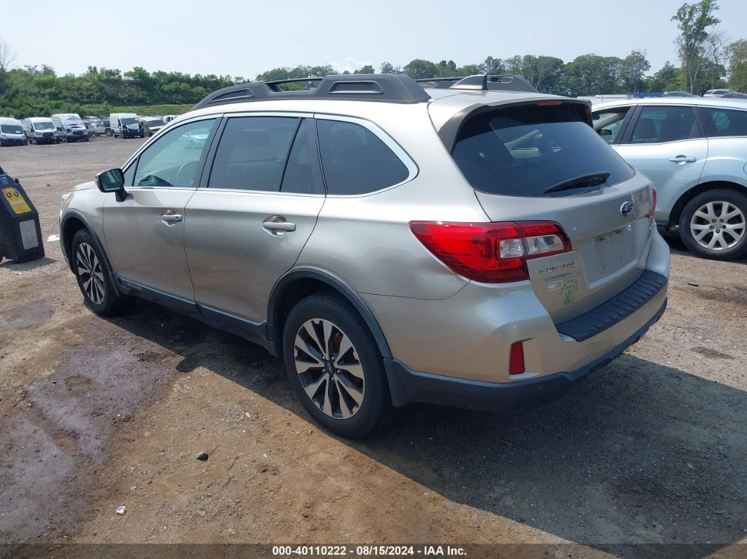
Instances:
[[[512,107],[473,116],[459,132],[452,157],[472,187],[503,196],[567,196],[634,174],[568,105]],[[545,193],[587,175],[593,177],[589,184],[576,181],[576,187]]]

